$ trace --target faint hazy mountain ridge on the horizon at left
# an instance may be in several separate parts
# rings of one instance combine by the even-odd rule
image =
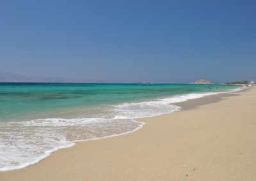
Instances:
[[[0,71],[0,82],[42,82],[42,83],[108,83],[108,80],[78,78],[24,76]]]

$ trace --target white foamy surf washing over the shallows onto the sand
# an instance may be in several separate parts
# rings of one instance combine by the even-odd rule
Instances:
[[[229,92],[241,91],[242,88]],[[170,98],[122,103],[99,108],[90,118],[50,118],[21,120],[0,124],[0,171],[15,170],[38,163],[60,148],[72,147],[76,141],[108,138],[134,132],[143,127],[135,118],[152,117],[179,111],[172,105],[225,92],[192,93]]]

